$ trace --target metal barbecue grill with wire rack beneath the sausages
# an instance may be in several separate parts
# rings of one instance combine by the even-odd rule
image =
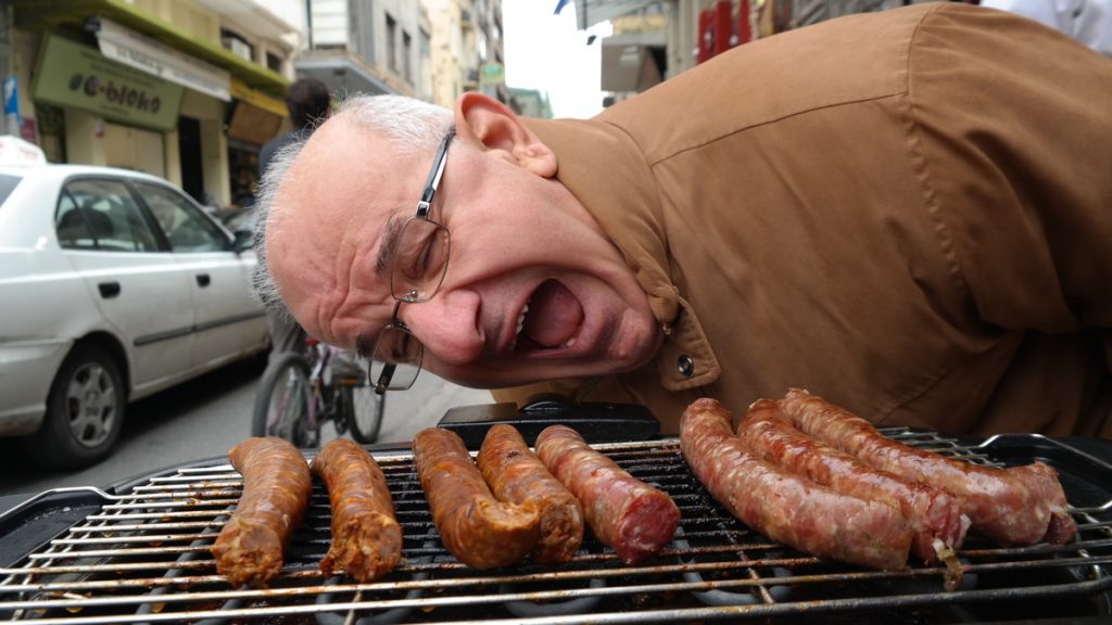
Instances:
[[[0,618],[42,623],[954,623],[1112,615],[1112,466],[1035,435],[971,444],[886,428],[916,447],[985,465],[1042,459],[1061,474],[1079,525],[1069,545],[1006,547],[970,537],[961,586],[913,563],[876,572],[822,562],[731,517],[689,473],[678,440],[596,444],[682,510],[673,543],[635,565],[589,535],[573,562],[475,571],[440,544],[408,449],[373,448],[405,533],[403,564],[359,584],[317,568],[329,505],[315,484],[306,520],[269,588],[232,588],[209,547],[242,483],[227,460],[175,467],[103,492],[41,494],[0,517]],[[47,533],[49,537],[41,537]]]

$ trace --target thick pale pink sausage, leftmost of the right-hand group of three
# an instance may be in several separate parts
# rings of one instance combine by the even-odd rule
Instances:
[[[732,515],[818,557],[885,571],[906,566],[912,533],[897,507],[843,495],[755,457],[731,421],[716,400],[695,400],[679,420],[679,449]]]

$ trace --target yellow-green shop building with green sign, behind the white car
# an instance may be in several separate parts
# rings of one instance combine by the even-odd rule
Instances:
[[[255,0],[2,8],[18,130],[49,160],[147,171],[211,206],[250,198],[254,155],[286,118],[289,22]]]

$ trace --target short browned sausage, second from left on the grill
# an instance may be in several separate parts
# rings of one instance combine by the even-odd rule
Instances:
[[[401,526],[375,458],[350,438],[337,438],[309,468],[327,486],[332,509],[332,545],[320,571],[345,572],[359,582],[394,571],[401,559]]]

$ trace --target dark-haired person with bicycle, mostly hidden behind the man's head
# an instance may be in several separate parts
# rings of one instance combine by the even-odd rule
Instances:
[[[300,78],[286,89],[286,108],[289,110],[291,129],[267,141],[259,150],[259,180],[266,180],[267,169],[275,156],[286,146],[304,141],[312,130],[328,118],[332,100],[328,86],[316,78]],[[296,321],[282,310],[269,309],[267,324],[270,327],[270,359],[284,351],[301,349],[305,333]]]

